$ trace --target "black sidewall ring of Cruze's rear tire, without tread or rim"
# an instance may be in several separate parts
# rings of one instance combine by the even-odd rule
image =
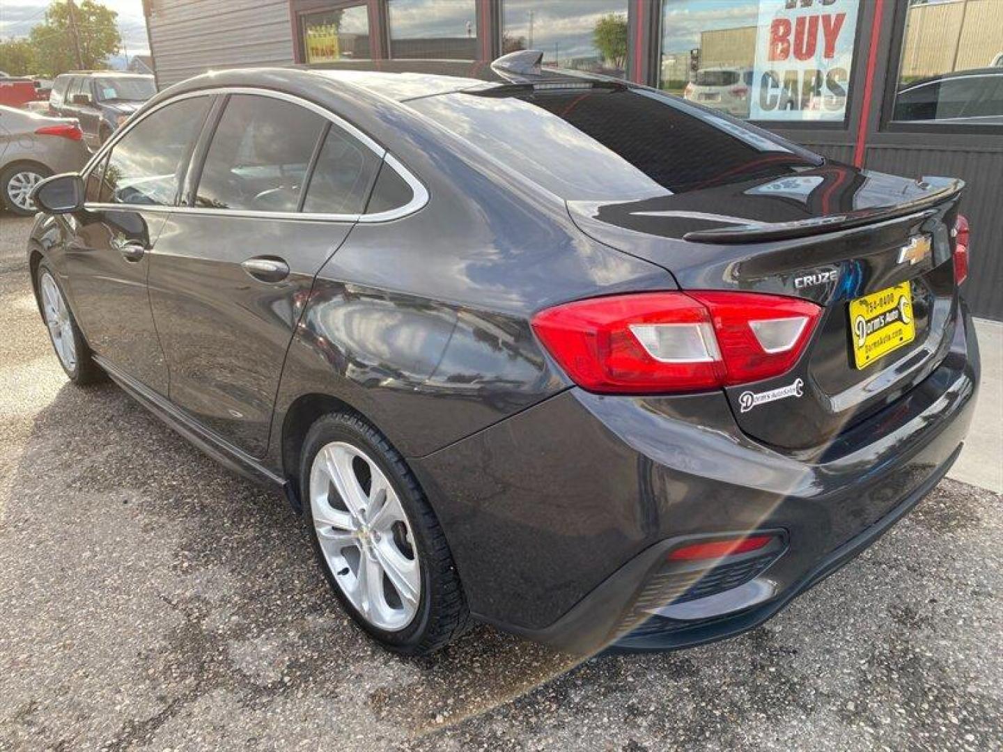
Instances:
[[[417,510],[415,509],[415,505],[418,501],[413,498],[415,490],[408,483],[401,481],[399,470],[387,460],[385,450],[372,440],[370,435],[368,435],[368,431],[359,430],[359,423],[358,418],[348,414],[327,415],[318,420],[307,434],[300,464],[303,519],[310,535],[310,541],[313,545],[317,562],[324,573],[325,580],[327,580],[328,585],[334,591],[335,596],[345,610],[369,635],[384,643],[389,648],[406,652],[408,648],[416,647],[421,643],[431,619],[433,600],[431,595],[435,584],[432,582],[432,575],[428,565],[430,541],[426,539],[425,531],[421,525],[416,524]],[[410,525],[418,553],[418,567],[421,573],[421,596],[414,619],[401,630],[389,632],[369,623],[342,592],[341,586],[334,579],[334,574],[331,572],[331,568],[328,567],[324,551],[321,548],[320,539],[313,524],[313,510],[310,503],[310,471],[317,453],[322,447],[332,441],[344,441],[365,451],[379,466],[387,480],[390,481],[394,492],[396,492],[397,497],[400,499],[404,513],[407,515],[407,521]]]

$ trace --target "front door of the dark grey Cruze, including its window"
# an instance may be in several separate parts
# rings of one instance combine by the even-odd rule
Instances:
[[[176,203],[209,96],[151,111],[87,173],[84,210],[68,215],[73,309],[87,343],[127,376],[168,394],[146,292],[149,253]]]

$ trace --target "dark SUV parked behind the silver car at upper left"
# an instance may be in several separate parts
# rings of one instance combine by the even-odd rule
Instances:
[[[52,82],[49,108],[79,120],[87,143],[99,146],[154,93],[151,75],[112,70],[63,73]]]

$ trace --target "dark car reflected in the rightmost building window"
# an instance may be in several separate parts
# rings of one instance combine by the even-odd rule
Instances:
[[[973,68],[914,81],[896,95],[895,119],[1003,123],[1003,69]]]

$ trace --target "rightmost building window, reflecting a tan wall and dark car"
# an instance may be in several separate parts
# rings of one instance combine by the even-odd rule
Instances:
[[[910,2],[892,118],[1003,125],[1003,2]]]

